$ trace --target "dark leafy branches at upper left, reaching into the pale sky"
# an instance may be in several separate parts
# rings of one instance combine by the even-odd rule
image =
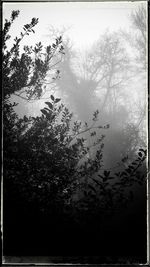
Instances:
[[[14,44],[8,51],[6,42],[10,39],[9,30],[18,15],[19,11],[12,12],[10,21],[5,21],[2,34],[3,87],[5,88],[3,94],[4,98],[14,94],[27,100],[38,99],[48,83],[47,74],[50,75],[52,72],[52,80],[59,74],[58,70],[53,70],[53,65],[57,64],[57,62],[54,63],[55,54],[63,53],[62,38],[61,36],[56,38],[55,43],[47,46],[44,51],[41,42],[34,48],[24,46],[24,52],[20,55],[21,40],[29,33],[34,33],[33,28],[38,23],[38,19],[33,18],[30,24],[24,25],[20,37],[14,39]]]

